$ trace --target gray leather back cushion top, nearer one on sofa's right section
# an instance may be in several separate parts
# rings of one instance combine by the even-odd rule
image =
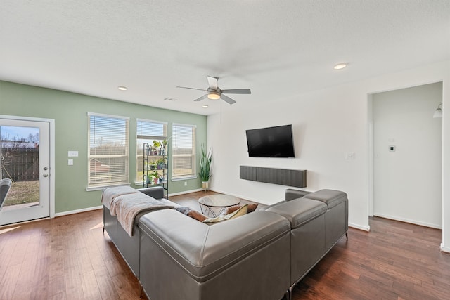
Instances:
[[[287,202],[282,202],[274,207],[266,209],[284,216],[290,221],[291,228],[297,228],[304,223],[315,219],[326,213],[326,204],[321,201],[298,198]]]

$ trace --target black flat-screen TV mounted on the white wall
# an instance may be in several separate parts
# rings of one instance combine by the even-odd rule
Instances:
[[[249,157],[295,157],[292,125],[248,129],[245,133]]]

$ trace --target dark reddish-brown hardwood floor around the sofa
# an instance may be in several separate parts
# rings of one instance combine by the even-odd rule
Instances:
[[[198,209],[203,192],[171,197]],[[294,289],[293,299],[450,299],[441,230],[387,219],[349,229]],[[0,299],[139,299],[139,282],[101,210],[0,228]]]

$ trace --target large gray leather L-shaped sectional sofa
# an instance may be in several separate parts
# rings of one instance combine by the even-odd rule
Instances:
[[[140,191],[177,206],[160,188]],[[214,225],[169,208],[138,214],[132,236],[108,207],[103,223],[152,300],[278,300],[347,235],[347,201],[337,190],[288,189],[282,202]]]

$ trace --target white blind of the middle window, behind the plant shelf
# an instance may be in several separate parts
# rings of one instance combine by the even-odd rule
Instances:
[[[167,139],[167,123],[136,120],[136,181],[143,181],[143,144]]]

